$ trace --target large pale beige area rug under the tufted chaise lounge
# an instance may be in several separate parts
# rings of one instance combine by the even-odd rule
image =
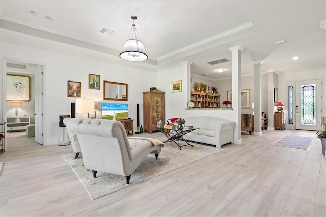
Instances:
[[[178,141],[178,143],[180,145],[185,144],[183,141]],[[82,157],[73,159],[75,153],[65,154],[62,155],[62,157],[67,161],[68,165],[76,173],[80,181],[82,181],[90,197],[95,200],[130,185],[189,165],[223,150],[221,148],[206,145],[191,144],[194,145],[194,147],[184,146],[180,150],[175,143],[165,143],[157,160],[155,160],[154,154],[149,154],[144,158],[139,167],[131,174],[129,184],[126,184],[124,176],[103,173],[100,171],[98,171],[96,178],[93,178],[92,171],[87,171],[85,166],[81,166],[83,162]]]

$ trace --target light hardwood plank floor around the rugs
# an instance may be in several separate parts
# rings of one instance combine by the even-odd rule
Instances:
[[[315,132],[262,134],[243,133],[241,145],[223,145],[222,152],[93,201],[61,156],[70,146],[9,133],[0,156],[0,216],[326,216],[326,159]],[[313,140],[307,150],[271,145],[285,135]]]

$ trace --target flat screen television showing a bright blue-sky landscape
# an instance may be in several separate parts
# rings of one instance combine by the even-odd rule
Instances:
[[[128,119],[128,104],[102,103],[102,119]]]

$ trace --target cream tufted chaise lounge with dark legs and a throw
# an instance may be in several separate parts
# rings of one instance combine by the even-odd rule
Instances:
[[[126,177],[129,184],[131,173],[148,154],[156,159],[163,143],[151,138],[128,138],[120,121],[93,118],[65,118],[67,130],[76,135],[83,154],[84,165],[93,171],[113,173]]]

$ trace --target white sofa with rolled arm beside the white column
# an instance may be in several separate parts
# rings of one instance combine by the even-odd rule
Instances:
[[[215,145],[216,148],[221,148],[222,145],[234,141],[234,121],[213,117],[188,117],[184,119],[186,126],[199,128],[184,135],[185,140]]]

